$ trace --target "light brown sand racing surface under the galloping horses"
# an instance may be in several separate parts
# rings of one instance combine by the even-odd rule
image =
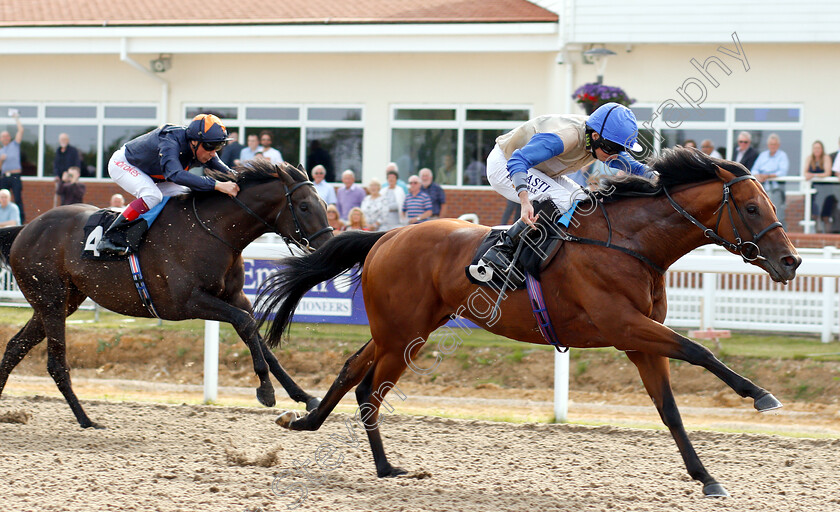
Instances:
[[[732,495],[718,500],[702,497],[661,430],[385,414],[386,452],[409,474],[378,479],[348,414],[318,432],[287,432],[269,409],[84,406],[107,429],[80,429],[59,398],[0,400],[0,509],[840,510],[838,439],[689,431]]]

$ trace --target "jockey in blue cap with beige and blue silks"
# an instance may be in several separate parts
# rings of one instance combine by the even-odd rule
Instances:
[[[536,220],[531,201],[551,199],[565,213],[575,201],[586,198],[566,174],[597,159],[631,174],[653,177],[627,152],[641,151],[638,132],[636,116],[629,108],[607,103],[589,117],[540,116],[499,136],[487,157],[487,180],[496,192],[522,208],[519,220],[484,255],[485,262],[507,267],[519,236]]]

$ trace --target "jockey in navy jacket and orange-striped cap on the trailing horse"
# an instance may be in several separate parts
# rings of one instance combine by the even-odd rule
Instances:
[[[115,241],[113,234],[160,204],[164,196],[190,190],[218,190],[235,196],[239,192],[236,183],[187,172],[195,165],[231,172],[216,154],[227,141],[227,130],[218,117],[199,114],[187,126],[165,124],[114,152],[108,174],[137,199],[105,230],[96,249],[105,254],[126,254],[128,248]]]

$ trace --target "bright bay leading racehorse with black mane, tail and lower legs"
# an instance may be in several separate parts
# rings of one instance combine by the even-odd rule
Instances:
[[[752,398],[759,411],[781,404],[703,346],[662,325],[667,309],[665,280],[656,267],[667,269],[687,252],[709,243],[709,237],[717,237],[780,282],[794,278],[801,259],[778,223],[769,197],[740,164],[678,148],[652,167],[660,173],[657,182],[629,177],[612,183],[612,197],[646,197],[599,203],[612,220],[611,234],[601,212],[580,217],[580,225],[570,230],[592,240],[611,236],[614,245],[636,256],[567,242],[543,271],[542,288],[561,341],[571,347],[612,346],[624,351],[638,367],[688,473],[703,483],[707,496],[725,496],[726,490],[703,467],[683,428],[668,359],[706,368],[742,397]],[[291,430],[316,430],[339,399],[359,384],[356,397],[376,472],[380,477],[396,476],[405,471],[385,457],[379,407],[406,367],[418,368],[414,361],[422,341],[450,315],[458,311],[493,333],[546,344],[526,291],[510,292],[496,321],[491,321],[487,301],[471,300],[478,288],[467,280],[464,267],[488,231],[467,222],[439,220],[384,234],[342,234],[310,255],[285,261],[288,266],[267,281],[257,300],[258,310],[277,310],[269,329],[270,346],[282,336],[303,293],[357,264],[364,265],[361,282],[373,338],[347,360],[315,410],[301,418],[295,412],[284,413],[278,424]]]

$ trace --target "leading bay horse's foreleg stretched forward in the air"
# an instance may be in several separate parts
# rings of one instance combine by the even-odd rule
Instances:
[[[625,335],[614,345],[624,351],[637,350],[651,355],[681,359],[693,365],[702,366],[716,375],[726,385],[744,398],[752,398],[755,408],[760,412],[782,406],[766,389],[756,386],[749,379],[742,377],[723,364],[712,352],[685,336],[680,336],[664,325],[643,316],[617,318],[615,332]]]

